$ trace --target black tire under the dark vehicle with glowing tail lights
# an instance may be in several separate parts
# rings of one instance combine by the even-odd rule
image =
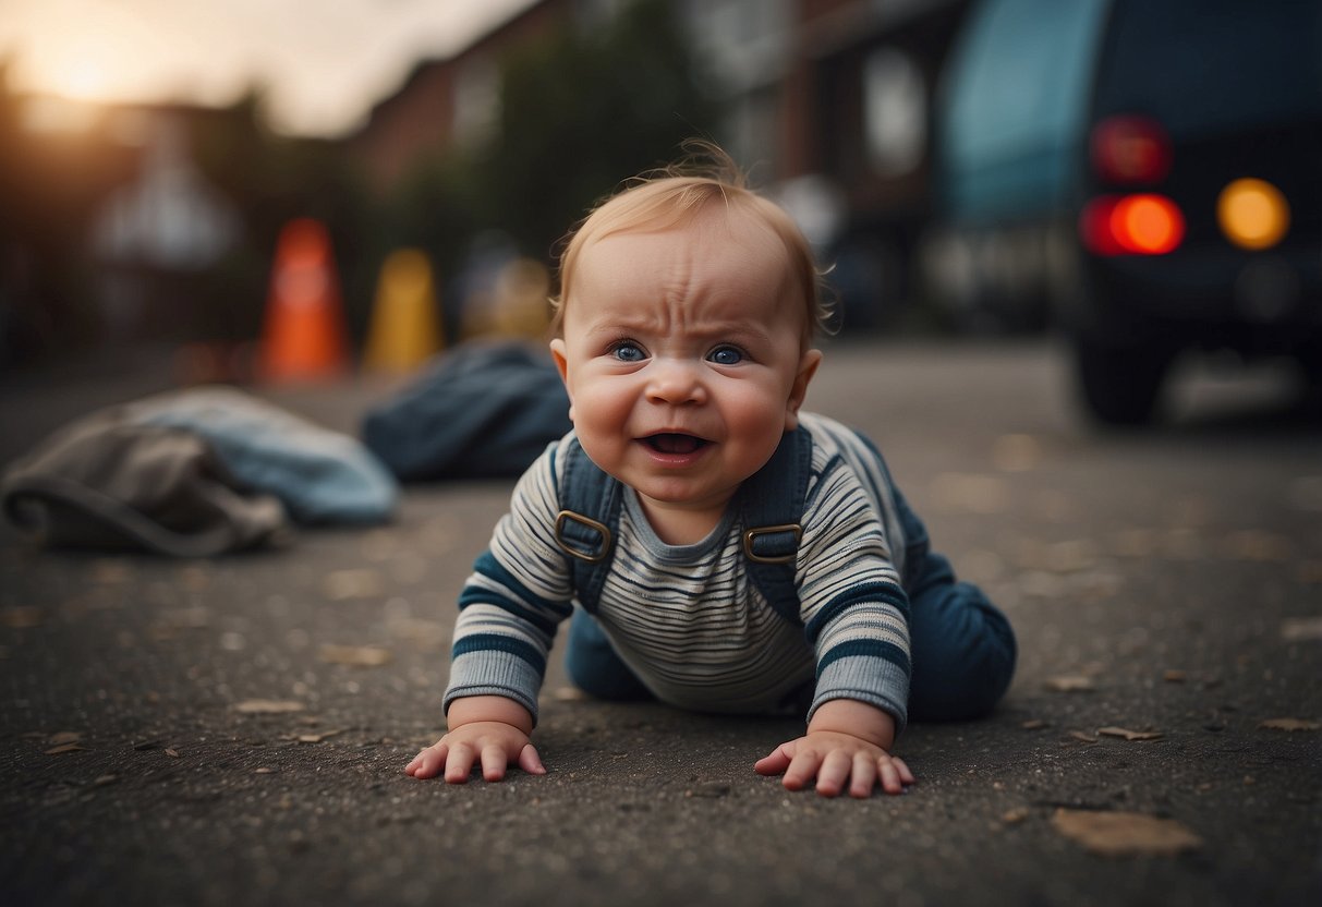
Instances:
[[[1112,426],[1153,420],[1174,350],[1153,344],[1117,345],[1097,337],[1075,337],[1075,368],[1091,415]]]

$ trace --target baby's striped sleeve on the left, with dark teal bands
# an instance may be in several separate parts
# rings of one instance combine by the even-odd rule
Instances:
[[[555,628],[572,612],[572,584],[554,537],[554,451],[555,444],[520,479],[459,596],[446,711],[461,697],[504,695],[537,721]]]

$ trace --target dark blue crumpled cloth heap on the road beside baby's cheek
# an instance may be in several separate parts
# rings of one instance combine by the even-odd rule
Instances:
[[[369,410],[362,440],[397,477],[502,479],[571,428],[550,356],[526,342],[471,342]]]

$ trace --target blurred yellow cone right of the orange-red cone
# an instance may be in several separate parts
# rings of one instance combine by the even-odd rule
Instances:
[[[410,372],[443,345],[431,262],[416,249],[391,253],[377,282],[364,365],[375,372]]]

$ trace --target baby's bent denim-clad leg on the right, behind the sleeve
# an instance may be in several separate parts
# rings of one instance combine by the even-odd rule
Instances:
[[[910,590],[910,721],[982,718],[1005,695],[1017,647],[1005,615],[928,553]]]

